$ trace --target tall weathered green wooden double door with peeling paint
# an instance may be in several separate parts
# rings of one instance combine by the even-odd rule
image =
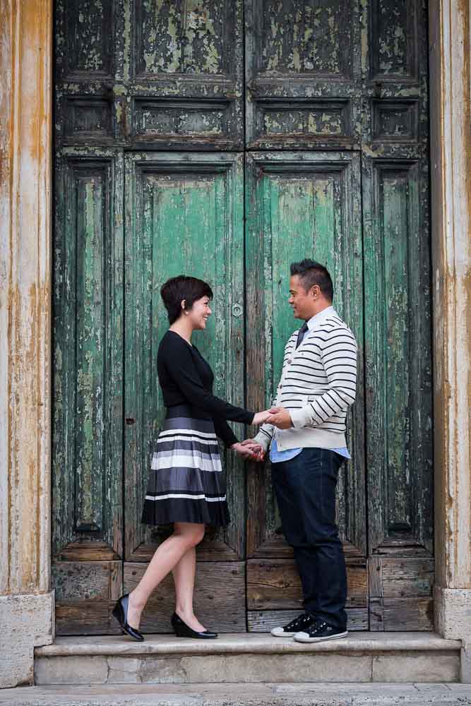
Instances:
[[[338,487],[350,628],[431,629],[423,1],[59,0],[55,82],[58,632],[117,632],[115,599],[167,536],[140,522],[162,282],[211,283],[197,343],[215,392],[263,409],[306,256],[360,349]],[[302,605],[270,467],[229,452],[225,468],[232,523],[198,548],[198,616],[268,630]],[[172,606],[167,578],[143,629],[169,631]]]

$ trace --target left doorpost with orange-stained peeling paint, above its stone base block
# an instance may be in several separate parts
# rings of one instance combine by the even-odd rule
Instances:
[[[1,5],[0,594],[49,591],[51,20]]]

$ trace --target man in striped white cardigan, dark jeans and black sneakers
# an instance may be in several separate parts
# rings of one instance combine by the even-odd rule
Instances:
[[[294,549],[305,612],[272,630],[277,637],[318,642],[347,635],[347,577],[335,525],[338,470],[350,458],[345,417],[354,402],[357,343],[332,306],[333,285],[323,265],[291,265],[290,299],[304,319],[285,348],[273,409],[254,439],[270,447],[282,528]],[[260,447],[259,447],[260,448]]]

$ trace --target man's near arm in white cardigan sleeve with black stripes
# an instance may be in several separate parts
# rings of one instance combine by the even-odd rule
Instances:
[[[321,350],[329,389],[301,409],[290,409],[294,429],[318,426],[353,404],[357,391],[357,343],[347,330],[331,331]]]

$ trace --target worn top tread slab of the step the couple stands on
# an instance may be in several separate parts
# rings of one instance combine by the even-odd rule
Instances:
[[[395,652],[453,651],[461,648],[460,640],[445,640],[436,633],[397,632],[350,633],[340,640],[308,643],[290,638],[274,638],[266,633],[226,633],[217,640],[191,640],[174,635],[145,635],[135,642],[127,635],[77,635],[58,637],[52,645],[35,648],[35,657],[68,657],[78,655],[154,654],[296,654],[299,652]]]

